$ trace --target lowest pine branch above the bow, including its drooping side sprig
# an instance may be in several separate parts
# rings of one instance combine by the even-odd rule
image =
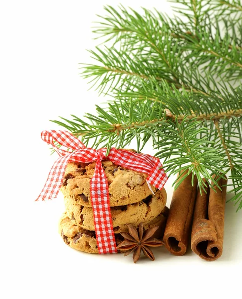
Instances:
[[[155,148],[162,148],[162,150],[157,152],[157,155],[166,159],[164,166],[170,174],[176,174],[180,169],[179,166],[183,165],[186,169],[189,168],[190,171],[194,171],[199,175],[200,188],[203,188],[200,178],[206,177],[209,181],[211,180],[211,173],[219,174],[224,171],[224,155],[221,150],[215,147],[218,143],[216,137],[212,135],[209,137],[209,130],[204,129],[208,128],[208,126],[202,126],[202,123],[229,120],[233,117],[238,119],[238,116],[240,116],[240,121],[242,122],[242,110],[229,111],[220,115],[198,115],[195,116],[197,123],[193,116],[193,114],[190,114],[176,117],[169,110],[164,110],[162,103],[158,102],[138,101],[135,103],[132,100],[124,100],[119,103],[109,104],[108,111],[97,106],[97,116],[86,115],[90,123],[75,116],[73,116],[73,121],[66,120],[67,124],[59,121],[54,122],[72,131],[74,135],[81,136],[82,141],[86,145],[95,138],[92,145],[95,148],[103,146],[106,146],[108,149],[111,146],[123,148],[133,138],[136,138],[138,151],[140,151],[151,138]],[[183,126],[182,130],[187,128],[190,123],[190,131],[185,129],[185,137],[189,139],[189,146],[184,146],[186,139],[184,139],[184,135],[180,134],[181,130],[177,131],[181,123]],[[179,132],[180,136],[177,132]],[[205,136],[201,134],[205,134]],[[197,135],[201,136],[197,138]],[[101,138],[97,141],[97,138],[100,136]],[[192,143],[190,141],[191,136],[194,137]],[[168,139],[171,139],[172,142],[169,143]],[[198,147],[198,141],[200,147]],[[179,145],[182,144],[182,149],[177,151]],[[191,149],[193,150],[192,154]],[[178,153],[180,153],[179,159],[177,158]],[[199,156],[194,155],[194,153],[199,154]],[[203,155],[200,156],[201,153]],[[171,159],[172,156],[175,156],[175,158]]]

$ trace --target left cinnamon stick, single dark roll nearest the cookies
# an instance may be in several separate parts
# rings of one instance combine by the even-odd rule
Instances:
[[[187,171],[182,173],[183,177]],[[181,178],[180,178],[181,179]],[[174,191],[166,223],[163,241],[165,247],[174,255],[181,256],[187,250],[188,236],[191,233],[192,216],[197,193],[197,177],[192,173]]]

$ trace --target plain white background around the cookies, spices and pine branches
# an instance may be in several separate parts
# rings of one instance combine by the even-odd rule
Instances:
[[[56,155],[40,138],[49,122],[94,112],[98,97],[80,78],[78,63],[103,5],[119,1],[0,1],[0,298],[226,298],[240,297],[242,211],[226,205],[224,252],[205,262],[188,250],[182,257],[164,248],[155,262],[122,255],[90,255],[66,246],[57,232],[62,196],[34,202]],[[171,13],[165,0],[122,1]],[[135,147],[135,145],[133,145]],[[150,146],[143,152],[153,154]],[[167,205],[172,196],[166,184]],[[221,297],[220,297],[221,296]]]

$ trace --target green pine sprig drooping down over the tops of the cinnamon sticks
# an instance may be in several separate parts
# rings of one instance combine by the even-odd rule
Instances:
[[[220,169],[218,166],[223,158],[216,149],[213,149],[214,142],[207,140],[207,129],[200,126],[201,122],[188,121],[185,118],[181,123],[176,119],[171,124],[175,125],[175,128],[170,129],[169,133],[164,135],[162,141],[156,146],[156,149],[159,149],[160,144],[162,144],[162,150],[157,152],[157,156],[165,158],[166,170],[177,174],[182,169],[188,169],[189,172],[197,175],[200,191],[205,190],[202,177],[205,177],[208,184],[213,188],[213,184],[216,184],[216,182],[212,179],[208,170],[222,177],[223,175],[218,171]],[[198,134],[205,136],[197,138]],[[175,155],[175,158],[172,159],[172,155]],[[182,165],[185,166],[182,167]],[[212,180],[212,184],[210,180]],[[175,180],[174,184],[177,181],[178,179]]]

